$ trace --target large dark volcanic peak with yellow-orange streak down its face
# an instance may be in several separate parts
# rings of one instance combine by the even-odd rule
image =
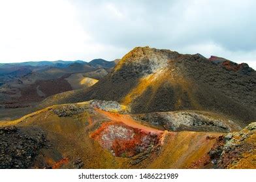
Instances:
[[[227,70],[199,54],[135,47],[101,81],[57,103],[113,100],[131,105],[134,114],[208,110],[245,126],[256,118],[256,73],[245,70]]]

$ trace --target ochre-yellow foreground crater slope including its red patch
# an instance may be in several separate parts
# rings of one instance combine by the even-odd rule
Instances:
[[[191,168],[221,135],[164,131],[125,113],[116,102],[89,101],[1,122],[1,168]]]

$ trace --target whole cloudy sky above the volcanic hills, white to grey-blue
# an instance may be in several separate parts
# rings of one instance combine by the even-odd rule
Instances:
[[[0,0],[0,62],[114,60],[136,46],[256,68],[254,0]]]

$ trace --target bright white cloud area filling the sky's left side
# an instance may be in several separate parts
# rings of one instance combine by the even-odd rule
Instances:
[[[0,22],[1,62],[87,60],[104,51],[68,1],[1,1]]]

